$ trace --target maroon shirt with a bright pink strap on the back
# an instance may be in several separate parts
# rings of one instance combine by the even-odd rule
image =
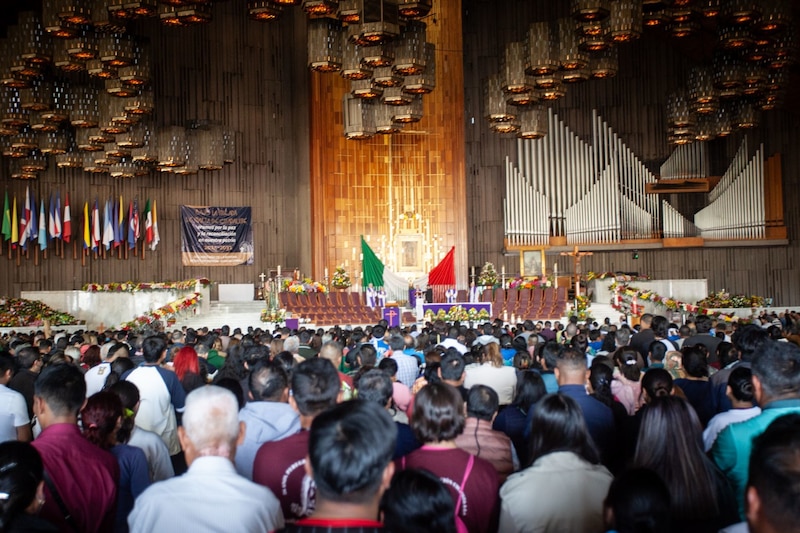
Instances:
[[[461,507],[458,516],[470,533],[497,530],[500,510],[497,472],[488,461],[475,458],[467,482],[461,487],[470,454],[458,448],[423,446],[397,461],[399,468],[424,468],[439,476],[453,502]]]

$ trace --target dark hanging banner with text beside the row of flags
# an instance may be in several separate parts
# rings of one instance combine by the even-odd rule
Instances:
[[[253,264],[253,228],[249,207],[181,206],[181,255],[184,266]]]

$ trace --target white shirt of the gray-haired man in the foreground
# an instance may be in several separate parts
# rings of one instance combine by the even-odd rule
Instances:
[[[131,533],[275,531],[283,525],[275,495],[237,474],[225,457],[198,457],[184,475],[150,485],[128,515]]]

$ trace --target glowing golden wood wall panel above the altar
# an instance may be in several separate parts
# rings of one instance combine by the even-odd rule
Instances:
[[[346,262],[351,275],[359,271],[360,235],[373,237],[373,249],[376,237],[389,236],[391,174],[393,181],[413,182],[416,208],[430,221],[431,235],[443,236],[434,264],[455,246],[457,280],[466,285],[464,81],[458,4],[437,1],[435,15],[426,19],[428,41],[436,46],[436,89],[423,98],[423,119],[406,126],[419,134],[346,140],[341,101],[349,82],[337,74],[312,74],[311,204],[317,278],[325,268],[333,272]],[[399,192],[395,186],[391,194]],[[403,207],[396,202],[395,206]],[[395,211],[394,222],[398,214]],[[425,243],[425,251],[430,251],[430,244]],[[386,257],[382,259],[387,262]]]

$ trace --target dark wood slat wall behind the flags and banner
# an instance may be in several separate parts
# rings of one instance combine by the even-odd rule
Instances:
[[[204,276],[222,282],[257,282],[274,268],[301,266],[308,232],[297,213],[303,180],[298,172],[307,159],[308,86],[305,69],[293,62],[305,57],[304,15],[287,11],[271,24],[247,18],[243,2],[213,7],[210,24],[165,28],[156,19],[138,22],[133,33],[149,38],[153,52],[156,125],[184,125],[191,119],[220,121],[235,132],[237,158],[219,172],[191,176],[152,173],[131,180],[108,175],[50,168],[36,181],[10,180],[3,169],[4,189],[24,200],[30,185],[37,200],[60,190],[69,193],[73,232],[80,230],[83,201],[109,197],[147,198],[158,204],[161,244],[146,259],[72,260],[52,255],[34,266],[33,254],[20,267],[0,256],[0,295],[21,290],[79,289],[87,282],[178,280]],[[298,20],[293,20],[299,19]],[[297,76],[301,76],[297,79]],[[299,131],[298,131],[299,130]],[[303,139],[297,143],[295,137]],[[305,180],[307,182],[307,179]],[[307,196],[306,196],[307,198]],[[183,267],[180,255],[180,205],[252,206],[255,264],[234,268]],[[307,209],[306,209],[307,210]]]

